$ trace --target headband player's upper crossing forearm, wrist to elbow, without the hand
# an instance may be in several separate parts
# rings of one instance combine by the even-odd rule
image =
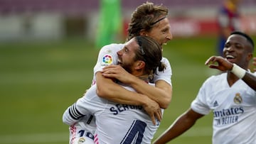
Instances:
[[[161,82],[160,82],[161,81]],[[156,101],[162,109],[166,109],[172,96],[171,85],[167,84],[163,80],[156,82],[155,87],[149,84],[145,84],[144,81],[134,77],[129,83],[137,92],[149,96],[150,99]]]

